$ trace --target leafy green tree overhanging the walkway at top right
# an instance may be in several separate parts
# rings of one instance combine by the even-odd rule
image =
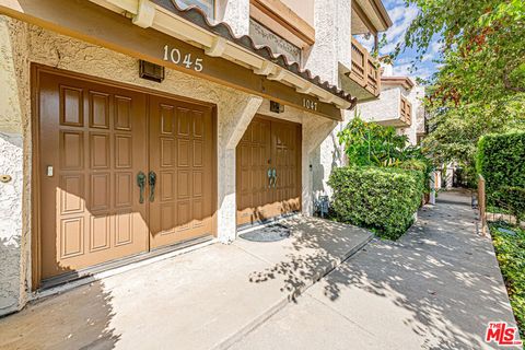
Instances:
[[[474,164],[479,138],[525,127],[525,1],[407,0],[420,12],[400,50],[421,59],[435,37],[438,73],[428,82],[430,137],[436,162]]]

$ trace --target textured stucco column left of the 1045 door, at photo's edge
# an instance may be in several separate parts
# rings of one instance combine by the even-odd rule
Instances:
[[[28,176],[24,178],[24,159],[28,156],[24,158],[24,132],[30,130],[23,124],[26,110],[21,101],[21,79],[28,77],[16,69],[15,62],[25,62],[18,50],[23,40],[16,39],[10,21],[0,16],[0,175],[11,176],[11,180],[0,183],[0,315],[20,310],[26,299],[28,242],[24,234],[27,217],[23,212],[24,199],[28,197],[24,194],[24,179],[28,182]]]

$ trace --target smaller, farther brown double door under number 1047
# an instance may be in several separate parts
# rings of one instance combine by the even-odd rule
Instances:
[[[236,149],[237,225],[301,210],[301,125],[256,116]]]

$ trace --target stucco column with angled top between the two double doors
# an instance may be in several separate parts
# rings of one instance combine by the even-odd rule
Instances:
[[[223,243],[236,238],[235,148],[262,103],[258,96],[249,96],[232,105],[229,115],[219,119],[219,240]],[[228,119],[221,120],[224,116]]]

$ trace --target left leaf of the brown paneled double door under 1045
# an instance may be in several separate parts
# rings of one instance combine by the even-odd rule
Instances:
[[[42,277],[148,249],[145,95],[39,77]],[[51,172],[52,167],[52,172]]]

